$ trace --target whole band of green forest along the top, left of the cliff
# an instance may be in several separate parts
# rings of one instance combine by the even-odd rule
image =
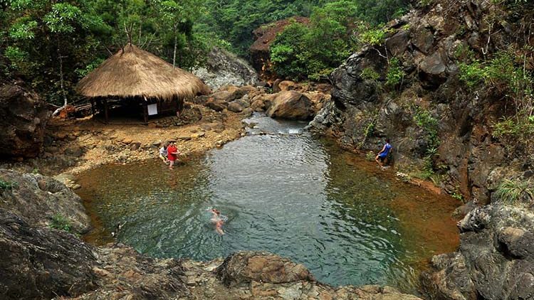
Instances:
[[[286,33],[286,45],[309,51],[292,63],[295,70],[281,70],[307,77],[327,72],[350,53],[356,18],[381,23],[404,7],[404,0],[0,0],[0,75],[21,78],[61,105],[75,95],[81,77],[128,41],[191,68],[213,45],[248,55],[252,31],[263,23],[311,16],[310,28]],[[290,41],[294,31],[300,36]],[[281,48],[277,54],[293,59]]]

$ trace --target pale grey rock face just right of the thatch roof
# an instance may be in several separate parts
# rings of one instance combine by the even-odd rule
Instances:
[[[258,73],[245,60],[226,50],[214,48],[208,55],[206,65],[193,70],[211,90],[224,85],[257,85]]]

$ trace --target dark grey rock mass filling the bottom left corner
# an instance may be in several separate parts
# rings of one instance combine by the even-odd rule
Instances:
[[[0,208],[0,299],[52,299],[95,289],[93,250],[75,235],[31,227]]]

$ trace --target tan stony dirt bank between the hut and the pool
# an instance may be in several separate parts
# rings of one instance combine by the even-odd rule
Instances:
[[[187,159],[244,135],[241,120],[248,117],[247,114],[227,110],[215,112],[194,104],[191,104],[190,109],[199,115],[200,120],[195,119],[191,124],[179,126],[173,124],[182,122],[177,117],[162,117],[148,125],[104,124],[93,117],[53,118],[49,122],[40,157],[4,163],[0,168],[72,179],[75,174],[101,164],[128,164],[132,161],[158,159],[159,147],[165,141],[176,141],[181,158]],[[111,120],[119,123],[132,119]]]

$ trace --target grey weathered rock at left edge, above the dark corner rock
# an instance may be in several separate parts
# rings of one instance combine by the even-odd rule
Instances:
[[[73,232],[90,228],[82,200],[63,183],[40,174],[0,169],[0,179],[12,188],[0,190],[0,208],[11,210],[33,226],[47,227],[54,215],[61,215]]]

